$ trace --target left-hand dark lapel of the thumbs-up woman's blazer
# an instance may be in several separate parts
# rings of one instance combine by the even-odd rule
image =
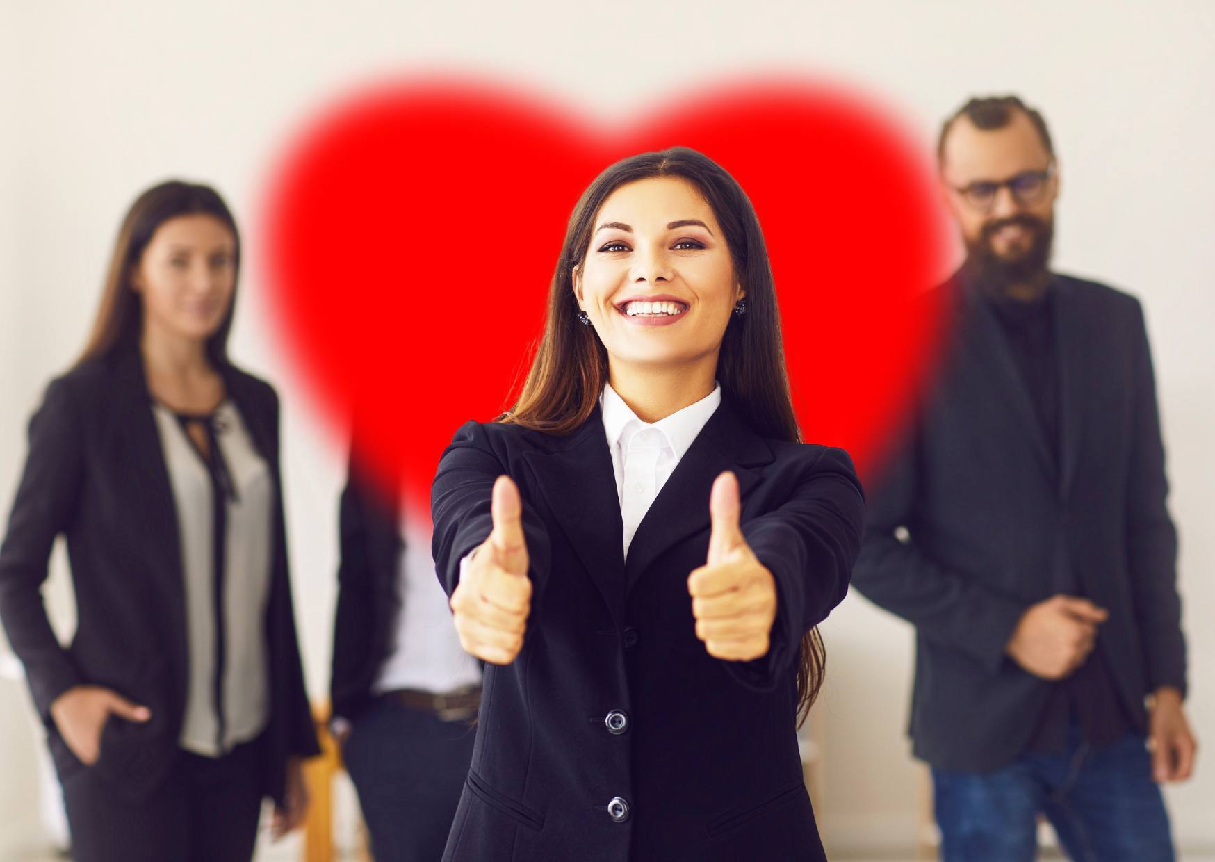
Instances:
[[[620,517],[616,473],[597,406],[582,426],[550,452],[526,452],[554,519],[620,622],[625,613],[625,525]]]

